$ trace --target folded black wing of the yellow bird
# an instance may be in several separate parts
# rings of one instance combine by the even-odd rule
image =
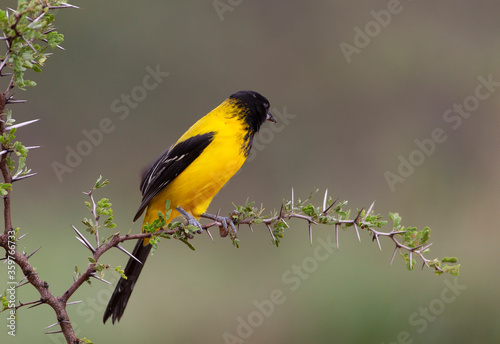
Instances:
[[[212,142],[214,132],[200,134],[179,142],[163,153],[142,176],[142,202],[134,216],[136,221],[149,202],[182,173]]]

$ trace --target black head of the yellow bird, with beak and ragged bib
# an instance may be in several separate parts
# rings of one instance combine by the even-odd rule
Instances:
[[[266,120],[276,123],[276,120],[269,112],[270,105],[267,98],[257,92],[239,91],[231,94],[229,100],[241,110],[239,116],[247,125],[247,134],[242,149],[248,156],[252,148],[253,136],[259,131],[262,123]]]

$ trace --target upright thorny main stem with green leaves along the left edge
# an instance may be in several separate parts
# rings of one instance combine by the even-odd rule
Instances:
[[[0,196],[4,201],[4,230],[0,235],[0,246],[5,250],[5,260],[9,266],[17,264],[24,277],[15,284],[15,288],[31,284],[40,294],[38,300],[32,302],[18,301],[18,305],[12,306],[7,303],[2,295],[2,303],[5,309],[17,310],[24,306],[35,307],[41,304],[51,306],[60,325],[60,330],[48,333],[63,333],[68,343],[78,343],[71,323],[69,321],[66,306],[68,305],[61,297],[54,296],[49,291],[49,284],[43,281],[37,274],[36,269],[30,264],[31,254],[20,252],[17,244],[25,235],[18,236],[18,228],[14,228],[11,218],[11,189],[12,183],[36,175],[29,173],[25,166],[25,160],[29,149],[39,148],[39,146],[25,147],[20,142],[15,141],[15,132],[18,128],[29,125],[35,121],[28,121],[13,125],[10,110],[6,109],[9,104],[24,103],[25,100],[16,100],[11,91],[18,87],[23,89],[26,86],[34,86],[35,83],[24,79],[24,72],[27,69],[41,71],[40,67],[49,54],[45,53],[48,46],[56,47],[62,41],[62,35],[54,31],[52,26],[53,15],[47,16],[48,12],[55,8],[74,7],[68,5],[64,0],[31,0],[19,1],[18,9],[8,9],[1,11],[0,26],[2,37],[0,41],[5,44],[5,50],[0,48],[0,80],[7,78],[4,92],[0,92],[0,171],[3,183],[0,183]],[[43,23],[42,23],[43,22]],[[37,41],[46,43],[46,46],[38,44]],[[10,69],[6,72],[6,69]],[[17,157],[16,160],[13,157]],[[14,166],[17,164],[17,171]],[[11,270],[9,270],[11,271]],[[10,276],[10,275],[9,275]]]

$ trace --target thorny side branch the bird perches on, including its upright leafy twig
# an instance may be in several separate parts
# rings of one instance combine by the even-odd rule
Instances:
[[[95,202],[92,196],[96,189],[105,186],[107,183],[107,180],[102,181],[102,177],[99,177],[94,187],[89,192],[85,193],[91,198],[91,202],[87,202],[87,207],[93,214],[94,218],[93,220],[84,219],[83,223],[87,226],[87,231],[91,234],[98,233],[100,226],[98,226],[97,223],[101,215],[108,216],[105,223],[107,224],[107,227],[114,228],[114,224],[110,221],[110,219],[112,220],[113,213],[110,208],[111,204],[109,203],[109,200],[107,198],[103,198],[100,201]],[[347,204],[347,202],[337,203],[337,200],[333,201],[328,197],[328,192],[325,192],[323,206],[321,208],[315,207],[310,202],[314,194],[315,192],[311,193],[305,201],[300,199],[296,201],[292,198],[292,200],[284,202],[278,213],[267,217],[263,217],[261,215],[264,208],[261,207],[260,209],[257,209],[253,206],[253,203],[249,202],[247,202],[245,206],[237,206],[228,218],[220,217],[219,213],[217,213],[217,215],[203,214],[202,217],[212,221],[203,225],[202,229],[210,234],[210,228],[219,227],[221,236],[225,237],[228,234],[226,221],[231,221],[234,225],[238,226],[238,230],[240,225],[247,225],[250,229],[252,229],[253,225],[264,224],[271,234],[273,243],[276,246],[279,246],[280,240],[283,238],[285,228],[289,228],[287,220],[298,219],[307,222],[310,242],[312,242],[313,226],[328,225],[333,227],[335,230],[337,249],[339,247],[338,232],[340,228],[354,228],[359,240],[361,240],[359,229],[365,229],[372,235],[373,241],[377,241],[380,249],[381,245],[379,237],[388,237],[395,244],[395,250],[390,262],[391,265],[394,261],[396,252],[406,251],[407,253],[402,254],[402,257],[410,270],[413,269],[415,264],[413,261],[413,255],[416,255],[422,260],[423,266],[433,268],[437,274],[445,272],[454,275],[458,274],[459,265],[442,267],[442,263],[455,263],[456,258],[445,258],[442,261],[439,261],[438,259],[431,260],[425,257],[425,254],[429,252],[429,247],[431,246],[431,244],[427,243],[427,240],[430,237],[429,228],[426,227],[421,231],[417,231],[414,227],[402,227],[400,225],[401,218],[397,213],[394,213],[389,215],[394,224],[392,230],[390,232],[382,232],[375,228],[380,228],[386,225],[387,221],[381,220],[380,215],[373,213],[374,203],[371,204],[368,211],[361,209],[356,212],[356,217],[354,219],[349,219],[350,211],[343,210],[343,206]],[[167,201],[165,209],[169,208],[170,202]],[[170,212],[171,210],[167,210],[165,214],[159,214],[159,218],[152,224],[146,224],[144,227],[146,233],[120,236],[120,233],[117,232],[110,238],[103,239],[102,244],[98,244],[95,249],[92,244],[90,244],[90,242],[75,227],[73,227],[79,236],[77,239],[91,251],[92,257],[89,258],[91,264],[87,267],[83,274],[78,275],[78,279],[75,280],[75,283],[71,285],[64,294],[63,300],[67,301],[84,282],[88,281],[91,277],[95,277],[96,272],[103,272],[105,269],[109,269],[109,265],[99,264],[98,261],[101,256],[111,248],[118,247],[129,256],[132,256],[119,246],[119,244],[124,241],[149,238],[150,243],[154,248],[156,248],[160,238],[166,237],[179,239],[193,248],[193,246],[189,243],[189,240],[194,238],[194,236],[198,233],[199,228],[196,225],[185,225],[180,222],[171,222],[167,224],[166,222],[170,216]],[[331,215],[330,212],[332,212],[333,215]],[[210,235],[210,237],[212,236]],[[230,237],[233,244],[238,247],[239,241],[237,239],[237,231],[231,232]],[[96,242],[99,242],[99,238],[96,238]],[[116,270],[119,271],[119,267]]]

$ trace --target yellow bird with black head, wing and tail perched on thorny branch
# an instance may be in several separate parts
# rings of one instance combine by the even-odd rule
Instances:
[[[219,106],[193,124],[169,149],[161,154],[142,176],[142,201],[134,222],[145,212],[142,232],[147,224],[165,212],[170,201],[167,223],[183,216],[197,225],[212,199],[247,159],[254,135],[267,120],[276,123],[267,98],[254,91],[231,94]],[[224,227],[233,222],[214,217]],[[104,311],[103,322],[119,321],[135,287],[152,245],[139,239]],[[135,258],[135,259],[134,259]]]

